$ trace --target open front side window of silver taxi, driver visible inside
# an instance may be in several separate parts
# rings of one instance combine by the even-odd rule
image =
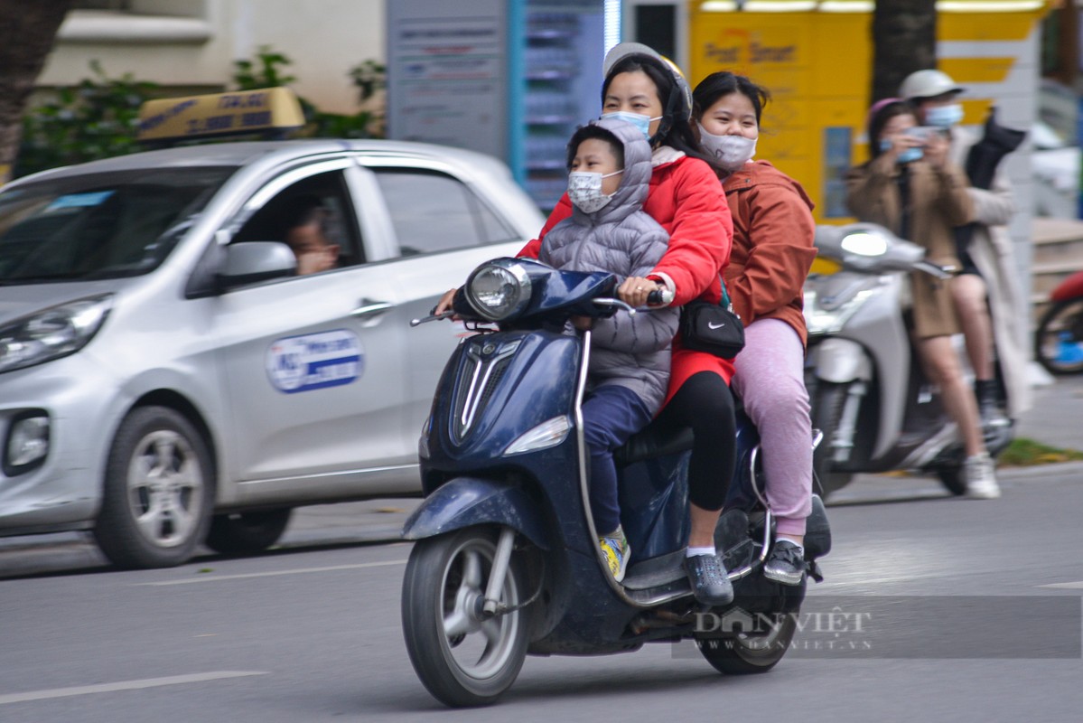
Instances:
[[[341,171],[311,176],[271,198],[231,243],[277,241],[297,256],[297,273],[318,273],[364,262],[357,221]]]

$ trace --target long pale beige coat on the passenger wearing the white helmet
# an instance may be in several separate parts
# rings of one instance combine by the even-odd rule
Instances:
[[[976,140],[966,130],[953,128],[952,162],[963,165]],[[970,258],[989,288],[996,360],[1007,390],[1008,415],[1015,417],[1031,405],[1026,346],[1029,323],[1019,283],[1019,266],[1007,230],[1016,207],[1003,162],[991,189],[971,188],[968,193],[974,204],[973,220],[978,223],[970,241]]]

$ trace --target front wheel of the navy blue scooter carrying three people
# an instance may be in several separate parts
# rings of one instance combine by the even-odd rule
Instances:
[[[488,528],[471,527],[414,545],[403,578],[406,650],[425,687],[453,707],[495,702],[519,675],[530,632],[522,559],[512,555],[500,591],[500,612],[485,617],[482,601],[496,554]],[[527,608],[529,609],[529,608]]]

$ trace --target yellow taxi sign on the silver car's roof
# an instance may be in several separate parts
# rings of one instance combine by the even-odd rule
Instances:
[[[303,125],[301,104],[291,90],[264,88],[147,101],[140,108],[138,138],[164,141],[284,132]]]

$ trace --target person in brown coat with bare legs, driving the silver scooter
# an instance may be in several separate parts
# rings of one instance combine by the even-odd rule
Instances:
[[[948,139],[915,135],[917,116],[899,99],[876,103],[869,116],[871,159],[847,177],[850,211],[921,244],[930,261],[958,269],[954,228],[974,219],[974,204],[966,175],[949,158]],[[994,464],[986,452],[977,402],[951,343],[951,335],[961,331],[949,287],[953,280],[924,273],[911,279],[917,352],[963,436],[967,487],[995,490]],[[999,490],[986,496],[997,494]]]

